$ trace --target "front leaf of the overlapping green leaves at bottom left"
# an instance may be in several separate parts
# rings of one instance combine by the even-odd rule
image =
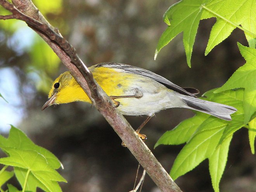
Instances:
[[[2,149],[9,154],[9,157],[1,158],[0,163],[29,171],[29,175],[33,175],[40,184],[42,183],[44,188],[47,189],[46,191],[61,191],[57,182],[66,182],[66,180],[48,164],[47,159],[42,154],[12,147],[2,147]],[[23,185],[22,181],[19,180],[19,182]],[[29,180],[28,184],[30,184]],[[29,187],[29,185],[26,185],[25,190],[30,190]]]

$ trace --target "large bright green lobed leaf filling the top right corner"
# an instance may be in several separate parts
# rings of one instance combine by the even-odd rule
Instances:
[[[217,21],[211,30],[205,51],[206,55],[214,46],[226,39],[236,27],[244,31],[249,46],[255,48],[255,10],[256,3],[254,0],[182,0],[172,5],[164,14],[163,19],[168,27],[159,39],[155,59],[164,46],[176,35],[183,32],[183,44],[187,55],[187,63],[190,67],[199,21],[210,17],[216,17]]]

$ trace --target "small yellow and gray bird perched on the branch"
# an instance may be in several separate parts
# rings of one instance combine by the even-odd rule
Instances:
[[[111,97],[123,115],[147,115],[167,108],[182,107],[231,120],[236,108],[196,98],[194,88],[181,88],[149,70],[120,63],[99,63],[89,67],[93,78]],[[78,82],[64,72],[52,84],[48,101],[51,105],[84,101],[92,103]],[[148,118],[148,120],[149,120]]]

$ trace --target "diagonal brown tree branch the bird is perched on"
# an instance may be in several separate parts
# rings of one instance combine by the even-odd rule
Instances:
[[[0,19],[20,19],[35,30],[66,65],[76,81],[88,94],[95,107],[106,118],[159,189],[162,192],[181,192],[123,115],[113,107],[112,101],[94,81],[91,72],[78,57],[74,47],[61,36],[57,29],[48,23],[31,0],[12,0],[12,2],[13,4],[7,0],[0,0],[0,4],[12,12],[12,16],[2,15]]]

